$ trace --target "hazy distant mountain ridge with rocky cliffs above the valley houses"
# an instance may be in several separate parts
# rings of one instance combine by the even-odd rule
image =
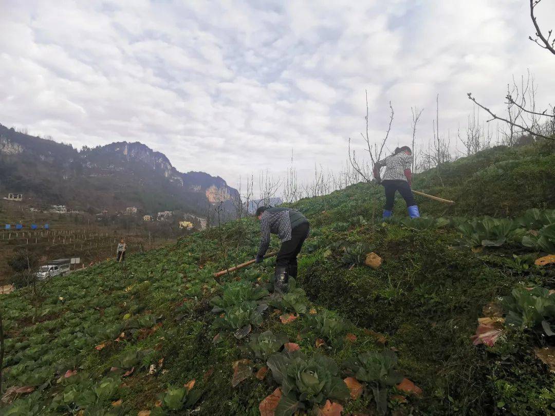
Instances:
[[[164,154],[139,142],[78,151],[1,124],[0,192],[90,212],[137,206],[147,213],[182,210],[199,216],[220,201],[231,205],[238,195],[221,177],[181,173]]]

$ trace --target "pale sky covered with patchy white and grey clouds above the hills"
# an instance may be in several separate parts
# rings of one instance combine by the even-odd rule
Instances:
[[[235,185],[279,175],[291,149],[302,177],[339,169],[365,90],[372,138],[395,109],[391,149],[410,138],[411,106],[426,144],[436,94],[453,134],[466,93],[501,111],[527,69],[538,105],[555,104],[555,59],[527,39],[526,0],[340,3],[0,0],[0,123],[77,148],[141,141]],[[555,2],[537,17],[547,29]]]

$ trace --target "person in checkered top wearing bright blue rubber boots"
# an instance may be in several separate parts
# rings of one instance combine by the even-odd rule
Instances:
[[[385,166],[384,179],[380,180],[380,168]],[[395,202],[395,191],[399,191],[407,203],[408,216],[420,217],[415,197],[412,195],[412,151],[408,146],[396,148],[395,153],[378,161],[374,165],[374,177],[377,182],[385,188],[384,219],[393,215],[393,202]]]

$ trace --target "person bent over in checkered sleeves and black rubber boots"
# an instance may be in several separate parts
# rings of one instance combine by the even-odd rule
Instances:
[[[309,235],[309,221],[299,211],[290,208],[273,208],[261,206],[256,210],[260,220],[260,248],[256,255],[256,263],[264,260],[270,245],[270,233],[277,234],[281,240],[281,248],[276,258],[274,272],[275,292],[287,291],[289,276],[297,277],[297,255],[302,243]]]

